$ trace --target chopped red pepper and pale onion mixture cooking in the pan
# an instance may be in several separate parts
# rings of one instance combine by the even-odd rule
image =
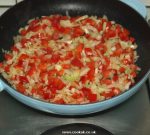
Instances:
[[[140,68],[135,39],[106,16],[43,16],[19,30],[0,73],[19,92],[56,104],[84,104],[129,89]]]

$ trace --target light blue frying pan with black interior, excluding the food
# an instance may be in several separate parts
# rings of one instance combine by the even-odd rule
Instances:
[[[109,20],[114,20],[130,30],[138,44],[137,65],[141,67],[135,84],[128,91],[116,97],[83,105],[59,105],[25,96],[13,89],[3,77],[0,78],[1,89],[32,108],[60,115],[84,115],[106,110],[122,103],[136,93],[150,73],[150,28],[141,15],[118,0],[113,0],[113,2],[112,0],[25,0],[8,10],[0,18],[0,51],[2,48],[5,50],[11,48],[13,37],[29,19],[50,14],[66,15],[66,13],[70,16],[87,14],[101,17],[106,15]],[[1,51],[0,61],[2,60]]]

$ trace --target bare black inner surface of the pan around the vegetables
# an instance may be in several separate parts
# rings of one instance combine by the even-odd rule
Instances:
[[[29,19],[50,14],[106,15],[131,31],[138,44],[139,60],[137,64],[141,72],[136,83],[150,68],[150,28],[146,21],[133,9],[118,0],[25,0],[14,6],[0,18],[0,61],[3,60],[1,49],[9,50],[13,45],[13,37],[20,27]]]

